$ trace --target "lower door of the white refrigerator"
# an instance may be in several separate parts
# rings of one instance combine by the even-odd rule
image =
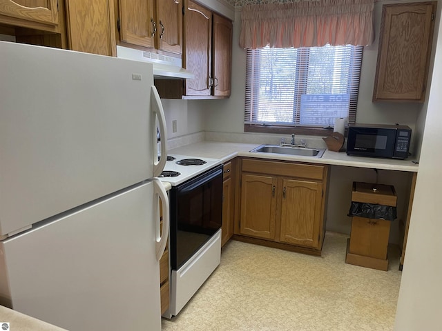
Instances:
[[[0,303],[72,331],[160,331],[154,194],[149,181],[0,243]]]

